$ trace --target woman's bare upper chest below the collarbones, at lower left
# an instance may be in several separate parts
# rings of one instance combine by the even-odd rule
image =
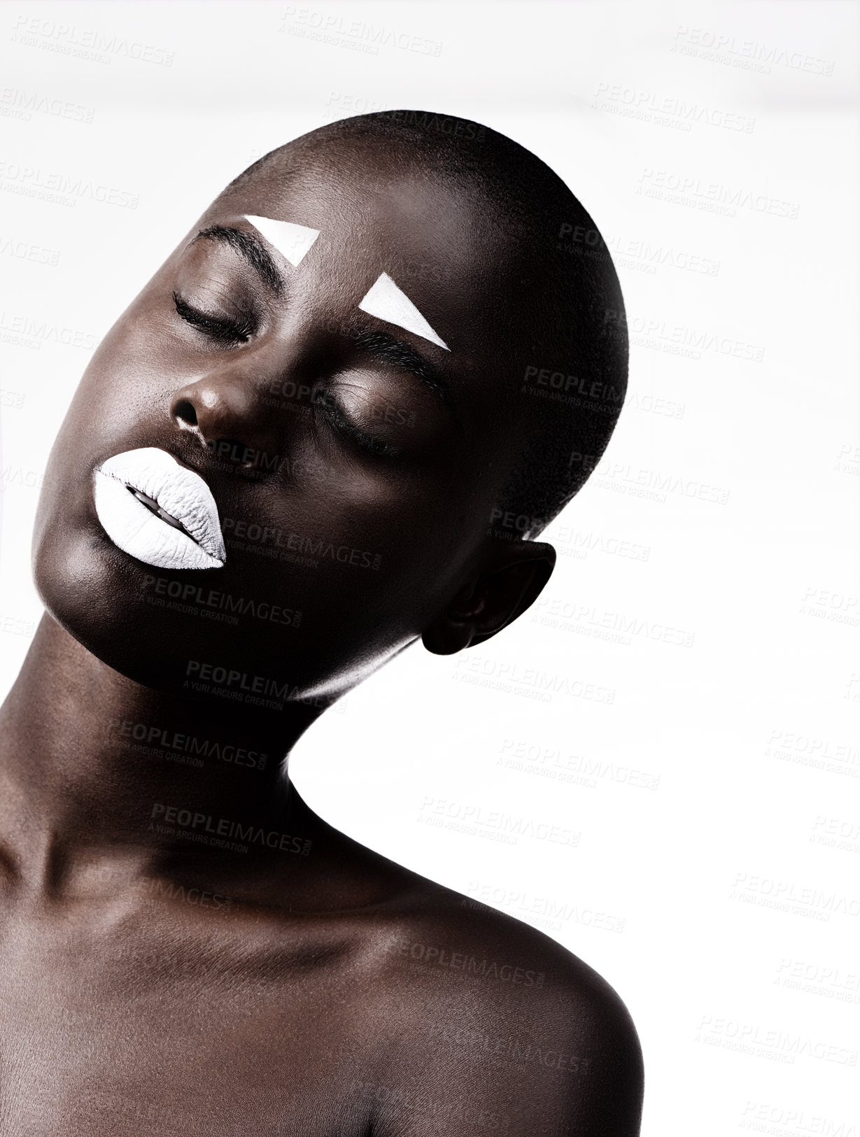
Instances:
[[[0,946],[2,1137],[369,1131],[378,1048],[349,969],[140,930],[72,939]]]

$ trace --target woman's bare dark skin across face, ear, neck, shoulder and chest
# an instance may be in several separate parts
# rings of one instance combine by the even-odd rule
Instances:
[[[638,1132],[611,988],[332,829],[282,762],[387,659],[488,639],[552,572],[549,546],[488,536],[529,301],[523,250],[486,214],[386,148],[264,172],[215,201],[84,374],[35,529],[48,613],[2,709],[5,1135]],[[254,236],[245,215],[321,235],[297,267],[268,248],[279,283],[235,238],[197,236]],[[358,310],[383,271],[450,351]],[[154,568],[107,538],[93,467],[146,446],[207,481],[224,567]],[[282,559],[306,548],[288,534],[346,559]],[[192,612],[158,603],[176,582],[301,616],[202,619],[193,590]],[[201,690],[197,665],[279,696]],[[206,836],[233,823],[263,837]]]

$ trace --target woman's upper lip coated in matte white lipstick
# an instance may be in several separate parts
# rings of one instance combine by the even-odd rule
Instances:
[[[139,490],[180,522],[206,553],[224,561],[224,537],[212,490],[196,471],[160,447],[138,447],[107,458],[96,472]]]

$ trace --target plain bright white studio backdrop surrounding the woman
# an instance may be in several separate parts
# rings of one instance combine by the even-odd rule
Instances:
[[[857,5],[22,0],[0,44],[2,691],[75,383],[213,197],[364,110],[510,134],[617,255],[628,405],[545,598],[296,780],[613,984],[646,1137],[860,1131]]]

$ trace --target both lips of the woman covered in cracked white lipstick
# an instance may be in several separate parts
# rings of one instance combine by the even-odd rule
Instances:
[[[108,458],[93,473],[93,498],[114,545],[143,564],[221,568],[226,561],[212,490],[166,450],[147,446]]]

